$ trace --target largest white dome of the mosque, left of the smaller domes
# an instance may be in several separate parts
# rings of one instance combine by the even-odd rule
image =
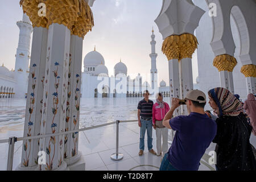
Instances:
[[[100,64],[105,65],[104,57],[100,54],[100,52],[89,52],[84,58],[84,67],[97,66]]]

